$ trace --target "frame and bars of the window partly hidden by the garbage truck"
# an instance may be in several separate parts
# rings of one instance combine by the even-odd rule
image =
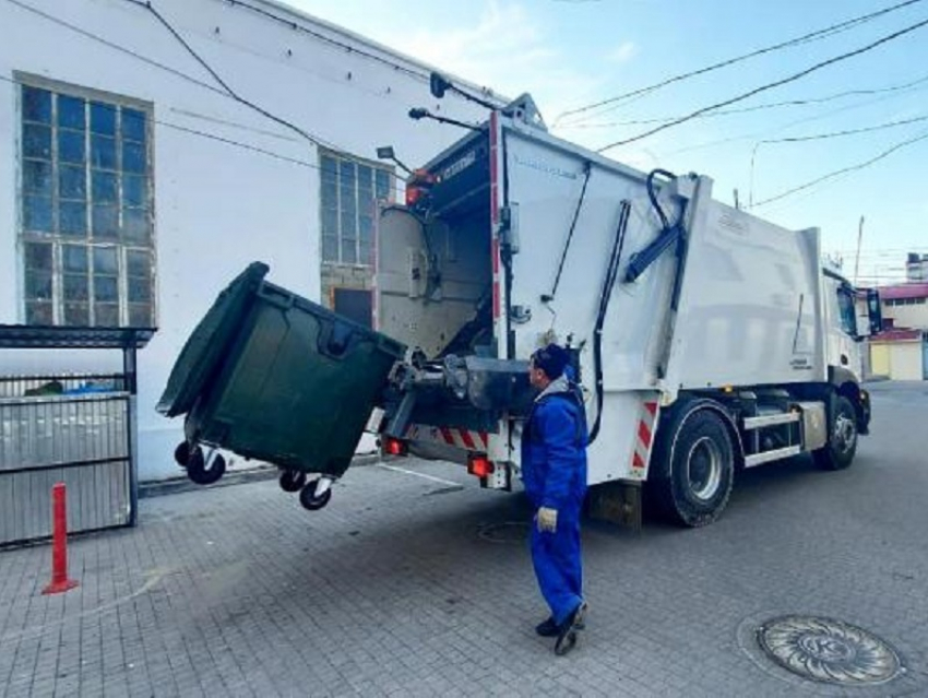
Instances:
[[[325,164],[326,158],[334,161],[335,169],[334,169],[334,180],[328,180],[330,173]],[[346,208],[343,204],[343,196],[344,196],[344,181],[343,181],[343,165],[350,165],[354,170],[354,180],[352,188],[352,201],[350,208]],[[367,260],[364,259],[362,253],[365,252],[365,245],[361,235],[361,221],[365,217],[362,201],[361,201],[361,191],[366,189],[361,186],[361,181],[358,177],[359,168],[369,168],[370,171],[370,192],[372,194],[370,199],[370,241],[369,241],[369,257]],[[386,191],[385,198],[379,198],[378,194],[383,190],[379,188],[378,185],[378,173],[382,173],[386,176]],[[326,185],[334,185],[334,196],[335,196],[335,206],[334,209],[330,205],[330,201],[326,198]],[[388,202],[392,202],[396,197],[396,182],[395,182],[395,168],[390,165],[384,165],[383,163],[377,161],[370,161],[362,157],[357,157],[355,155],[350,155],[345,152],[340,152],[331,149],[319,149],[319,259],[322,264],[326,264],[330,267],[350,267],[350,268],[359,268],[359,269],[372,269],[373,268],[373,232],[376,226],[376,221],[373,217],[377,214],[376,205],[377,201],[383,200]],[[332,221],[335,224],[335,234],[331,233],[331,222],[326,221],[328,217],[334,216]],[[344,224],[346,220],[353,218],[354,223],[354,233],[353,236],[346,236]],[[332,259],[331,255],[326,250],[326,246],[331,244],[331,240],[334,238],[336,245],[336,259]],[[353,242],[353,253],[345,255],[345,242],[346,240],[350,240]]]

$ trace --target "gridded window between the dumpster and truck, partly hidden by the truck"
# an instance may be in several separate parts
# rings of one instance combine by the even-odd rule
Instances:
[[[336,153],[321,155],[322,261],[370,267],[377,200],[392,197],[392,168]]]

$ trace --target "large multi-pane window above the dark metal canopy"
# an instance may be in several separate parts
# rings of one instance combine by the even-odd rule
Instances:
[[[26,323],[154,327],[151,105],[17,81]]]

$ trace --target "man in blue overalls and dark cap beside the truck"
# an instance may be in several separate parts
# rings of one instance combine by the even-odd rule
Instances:
[[[540,392],[522,431],[522,480],[535,508],[532,561],[551,616],[536,626],[566,654],[583,628],[580,510],[586,494],[586,414],[569,380],[570,354],[557,344],[532,355],[528,377]]]

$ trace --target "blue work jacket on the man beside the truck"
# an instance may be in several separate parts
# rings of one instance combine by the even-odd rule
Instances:
[[[576,386],[552,382],[522,430],[522,482],[535,507],[563,510],[586,494],[586,413]]]

